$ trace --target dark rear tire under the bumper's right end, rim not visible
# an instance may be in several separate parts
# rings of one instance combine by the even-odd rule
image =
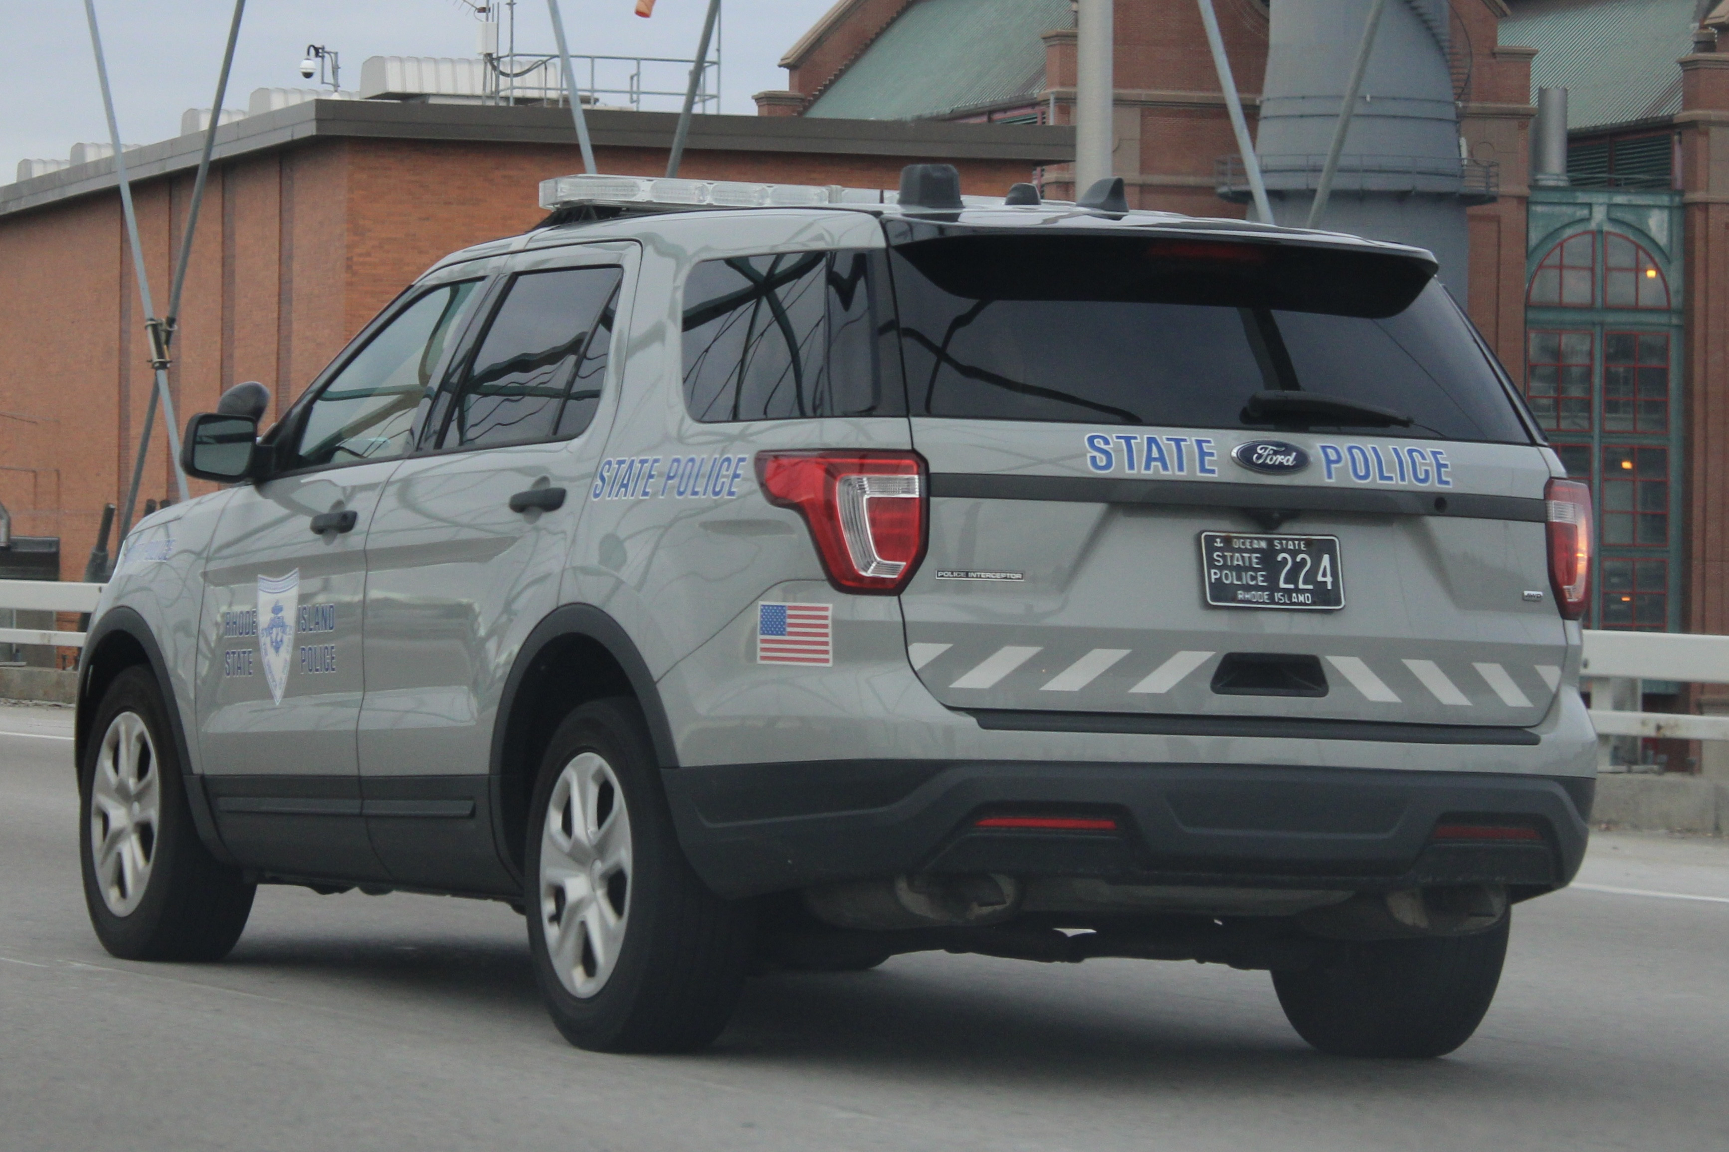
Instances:
[[[1473,936],[1342,945],[1316,967],[1274,972],[1273,988],[1297,1035],[1328,1055],[1447,1055],[1496,997],[1511,919]]]

